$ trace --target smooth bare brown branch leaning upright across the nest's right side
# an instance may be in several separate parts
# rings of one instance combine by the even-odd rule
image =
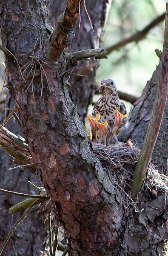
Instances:
[[[162,122],[162,116],[165,109],[166,99],[168,95],[168,3],[166,3],[166,16],[165,16],[165,35],[162,53],[162,61],[160,66],[159,83],[157,87],[157,96],[154,102],[148,131],[142,145],[140,156],[134,171],[131,189],[133,198],[140,192],[148,165],[151,160],[151,155],[154,150],[154,145],[157,140],[159,128]]]

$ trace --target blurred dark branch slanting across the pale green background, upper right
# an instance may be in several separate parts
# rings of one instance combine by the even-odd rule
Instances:
[[[146,35],[148,34],[148,32],[153,29],[155,26],[157,26],[160,22],[162,22],[165,19],[165,13],[163,13],[162,15],[160,15],[159,17],[157,17],[155,20],[153,20],[151,23],[149,23],[148,26],[145,27],[145,29],[143,29],[142,31],[138,31],[137,33],[135,33],[134,35],[132,35],[131,37],[120,41],[118,44],[115,44],[111,47],[108,47],[106,49],[106,51],[109,53],[113,52],[114,50],[119,49],[120,47],[124,46],[125,44],[129,44],[131,42],[138,42],[141,41],[143,39],[145,39]]]

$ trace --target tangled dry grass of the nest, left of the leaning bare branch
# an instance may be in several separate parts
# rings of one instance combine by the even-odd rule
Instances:
[[[128,183],[134,172],[140,149],[137,145],[102,145],[93,143],[94,154],[111,177],[112,183],[123,186]],[[128,185],[130,186],[130,185]],[[123,188],[124,189],[124,188]]]

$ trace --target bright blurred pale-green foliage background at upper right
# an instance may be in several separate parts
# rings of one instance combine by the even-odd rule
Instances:
[[[105,26],[102,47],[110,47],[144,29],[165,12],[165,3],[165,0],[114,0]],[[114,79],[119,90],[140,96],[146,81],[159,64],[154,50],[162,51],[163,36],[164,21],[151,29],[144,40],[111,52],[108,60],[100,61],[97,81],[103,78]]]

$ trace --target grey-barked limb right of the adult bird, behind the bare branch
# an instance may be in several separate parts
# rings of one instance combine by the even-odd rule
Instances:
[[[134,103],[134,108],[131,112],[129,120],[128,131],[124,131],[121,134],[121,140],[127,140],[131,138],[134,142],[137,141],[139,148],[142,147],[142,143],[145,138],[145,134],[148,129],[149,121],[151,118],[152,109],[154,106],[154,100],[157,93],[157,84],[159,79],[159,66],[154,71],[150,81],[147,82],[142,95]],[[152,154],[152,163],[157,166],[160,172],[167,173],[167,159],[168,159],[168,100],[165,105],[165,111],[162,118],[162,124],[160,126],[157,142]]]

